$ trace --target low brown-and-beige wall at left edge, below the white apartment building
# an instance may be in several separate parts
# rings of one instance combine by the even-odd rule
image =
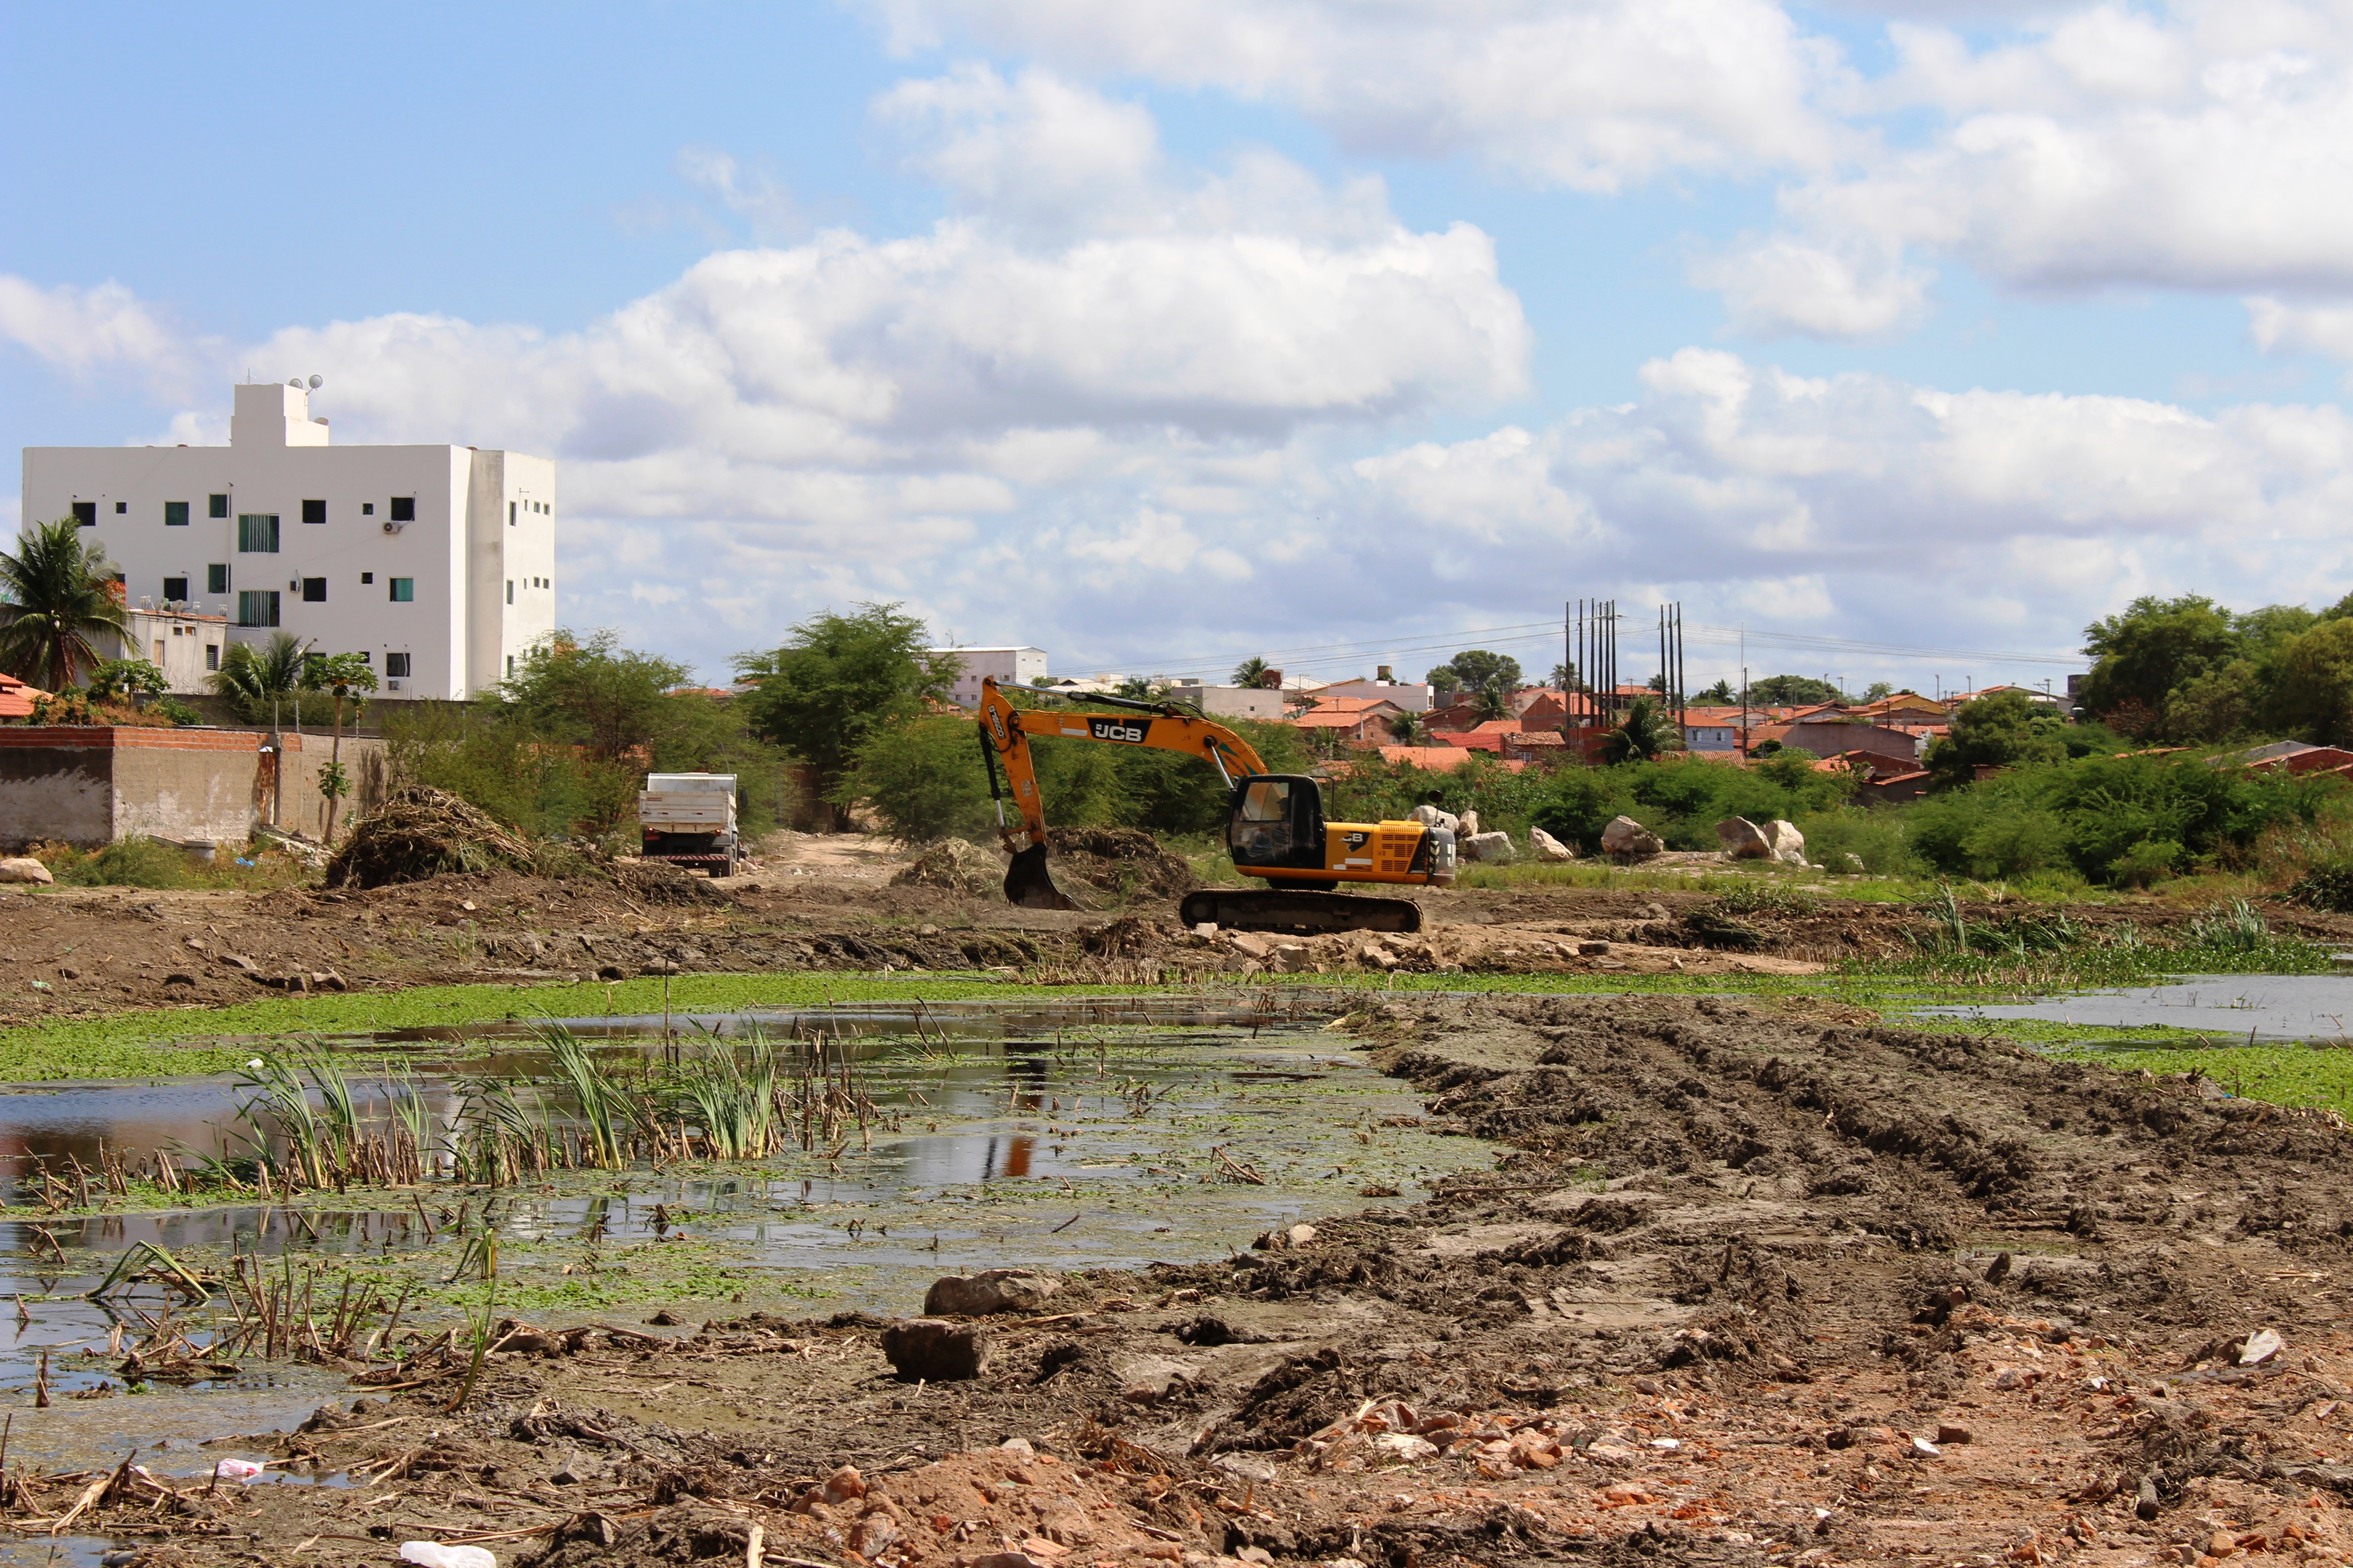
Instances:
[[[242,844],[273,809],[280,827],[322,837],[318,773],[332,741],[285,736],[282,806],[266,741],[238,729],[0,726],[0,844],[96,846],[132,835]],[[353,795],[336,809],[339,832],[353,811],[384,802],[384,741],[346,736],[344,771]]]

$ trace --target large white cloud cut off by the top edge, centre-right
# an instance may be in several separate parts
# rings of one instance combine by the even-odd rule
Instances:
[[[1824,167],[1835,47],[1769,0],[866,0],[899,52],[979,42],[1297,108],[1344,148],[1614,190]]]

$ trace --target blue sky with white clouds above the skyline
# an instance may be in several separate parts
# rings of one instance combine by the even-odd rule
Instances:
[[[1064,670],[1544,668],[1595,595],[1927,686],[2353,588],[2322,5],[7,26],[14,444],[325,374],[339,442],[555,456],[562,618],[706,675],[856,599]]]

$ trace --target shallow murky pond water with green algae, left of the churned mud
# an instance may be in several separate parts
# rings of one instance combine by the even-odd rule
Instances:
[[[871,1013],[838,1020],[864,1058],[868,1091],[896,1112],[896,1126],[875,1128],[871,1147],[852,1143],[840,1159],[795,1152],[664,1173],[562,1173],[511,1190],[428,1182],[365,1201],[358,1192],[306,1199],[292,1211],[28,1218],[19,1206],[0,1220],[0,1298],[21,1295],[28,1319],[19,1326],[0,1300],[12,1453],[54,1469],[115,1462],[136,1443],[158,1469],[193,1474],[245,1453],[195,1450],[198,1441],[282,1429],[325,1399],[351,1396],[341,1375],[247,1356],[238,1375],[209,1385],[125,1389],[113,1361],[82,1349],[104,1349],[118,1316],[136,1340],[134,1309],[153,1314],[162,1298],[146,1288],[101,1307],[80,1295],[136,1241],[193,1267],[231,1255],[315,1267],[327,1298],[344,1279],[374,1281],[386,1298],[407,1286],[405,1324],[435,1328],[492,1288],[454,1279],[461,1237],[485,1225],[499,1241],[501,1316],[638,1324],[678,1302],[692,1321],[753,1309],[908,1314],[941,1274],[1221,1255],[1275,1225],[1362,1206],[1365,1187],[1417,1197],[1438,1173],[1492,1159],[1475,1140],[1419,1128],[1419,1103],[1402,1084],[1285,1020],[1247,1011],[1148,1023],[939,1013],[918,1011],[920,1023],[896,1037]],[[633,1020],[584,1023],[607,1032],[614,1053],[661,1051],[659,1020],[654,1039],[633,1032]],[[920,1044],[906,1037],[911,1027],[922,1027]],[[520,1039],[494,1051],[511,1067],[532,1065]],[[424,1081],[438,1105],[454,1100],[449,1079]],[[94,1152],[99,1138],[129,1150],[214,1147],[212,1124],[235,1100],[228,1079],[45,1086],[0,1095],[0,1147],[19,1159]],[[1233,1180],[1242,1173],[1261,1182]],[[42,1349],[54,1403],[33,1410]],[[111,1385],[104,1396],[71,1396],[101,1385]]]

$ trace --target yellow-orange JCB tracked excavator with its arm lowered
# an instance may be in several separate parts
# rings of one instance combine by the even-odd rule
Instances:
[[[998,835],[1012,853],[1005,898],[1033,910],[1075,910],[1045,867],[1045,802],[1031,736],[1155,745],[1200,757],[1226,780],[1226,849],[1247,877],[1271,889],[1202,889],[1179,914],[1188,926],[1228,931],[1419,931],[1421,905],[1409,898],[1337,893],[1341,882],[1445,886],[1454,882],[1454,835],[1424,823],[1327,823],[1322,790],[1306,773],[1268,773],[1242,736],[1179,703],[1139,703],[1089,693],[1118,712],[1014,708],[995,679],[981,682],[981,759],[998,804]],[[1019,827],[1005,820],[1012,785]],[[1024,844],[1026,839],[1026,844]]]

